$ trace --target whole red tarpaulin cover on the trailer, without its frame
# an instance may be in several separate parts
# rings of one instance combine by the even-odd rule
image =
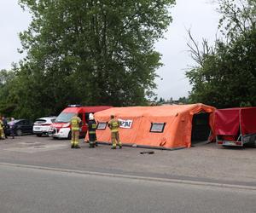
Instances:
[[[256,107],[218,109],[214,123],[215,135],[256,133]]]

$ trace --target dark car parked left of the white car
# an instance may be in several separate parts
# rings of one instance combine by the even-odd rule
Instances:
[[[32,121],[28,119],[17,119],[15,120],[15,135],[32,134]],[[7,135],[10,135],[10,130],[7,130]]]

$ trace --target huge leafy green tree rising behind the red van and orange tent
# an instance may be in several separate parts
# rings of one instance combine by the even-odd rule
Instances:
[[[36,117],[70,103],[145,104],[161,66],[154,43],[174,0],[20,0],[32,22],[20,33],[20,108]],[[29,91],[29,92],[28,92]],[[21,96],[20,96],[21,95]]]

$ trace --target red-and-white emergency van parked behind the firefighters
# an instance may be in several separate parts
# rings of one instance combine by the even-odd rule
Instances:
[[[109,106],[97,107],[81,107],[79,105],[69,105],[61,114],[55,119],[55,123],[51,124],[49,129],[49,136],[54,138],[71,138],[70,121],[75,114],[81,118],[83,125],[80,128],[80,136],[83,137],[87,132],[87,123],[89,114],[99,112],[111,108]]]

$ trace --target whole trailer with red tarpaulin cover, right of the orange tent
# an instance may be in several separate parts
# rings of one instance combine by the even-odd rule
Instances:
[[[224,147],[256,145],[256,107],[218,109],[215,111],[216,142]]]

